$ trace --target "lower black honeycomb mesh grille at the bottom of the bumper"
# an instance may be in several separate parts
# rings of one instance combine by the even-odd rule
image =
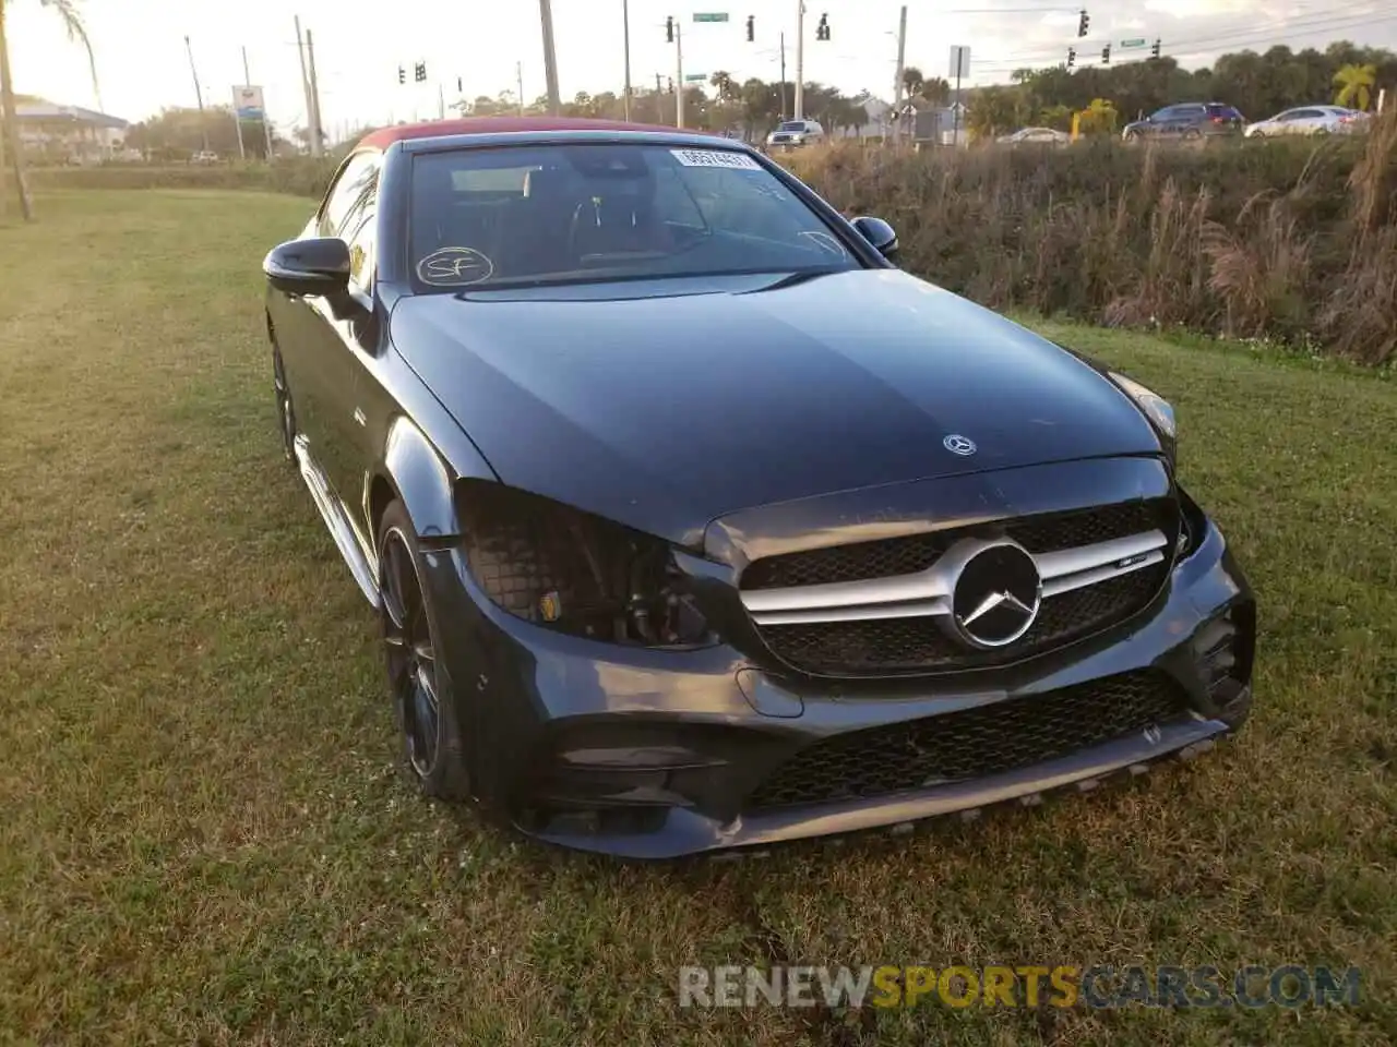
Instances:
[[[798,752],[747,810],[840,803],[985,778],[1099,745],[1187,715],[1166,674],[1141,670],[1058,691],[870,727]]]

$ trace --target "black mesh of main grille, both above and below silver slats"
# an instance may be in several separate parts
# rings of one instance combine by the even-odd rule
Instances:
[[[1003,533],[1030,553],[1097,544],[1161,529],[1172,544],[1178,508],[1172,500],[1122,503],[1094,510],[1023,517],[989,528],[933,532],[859,542],[807,553],[767,557],[742,575],[742,588],[787,586],[888,578],[925,571],[967,533]],[[1169,546],[1166,546],[1168,549]],[[1144,610],[1168,577],[1169,561],[1132,571],[1042,602],[1032,628],[1016,644],[975,651],[946,635],[937,617],[865,618],[800,625],[759,625],[773,655],[816,676],[947,673],[1017,662],[1065,646]]]

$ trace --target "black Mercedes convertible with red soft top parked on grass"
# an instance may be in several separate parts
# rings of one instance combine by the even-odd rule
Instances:
[[[1173,409],[895,257],[715,135],[359,142],[268,253],[265,322],[423,793],[668,857],[1085,790],[1242,725],[1255,602]]]

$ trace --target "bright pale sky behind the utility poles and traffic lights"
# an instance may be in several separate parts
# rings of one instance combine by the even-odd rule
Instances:
[[[320,109],[326,131],[430,119],[439,92],[450,103],[515,89],[545,92],[539,7],[535,0],[77,0],[96,52],[98,88],[82,49],[39,0],[6,0],[15,89],[54,102],[98,107],[137,121],[166,106],[193,106],[193,49],[205,105],[228,103],[244,82],[243,50],[253,84],[282,128],[305,123],[295,18],[314,38]],[[636,88],[655,74],[676,75],[676,49],[665,42],[665,17],[682,24],[685,74],[725,70],[738,80],[778,80],[780,35],[787,78],[796,75],[799,0],[629,0],[630,64]],[[902,0],[806,0],[805,80],[848,94],[891,95]],[[1080,0],[907,0],[907,63],[928,77],[946,75],[950,47],[971,49],[967,85],[1003,82],[1021,66],[1051,66],[1077,47],[1078,66],[1099,61],[1115,42],[1113,63],[1144,59],[1148,47],[1122,50],[1127,39],[1161,40],[1183,66],[1208,64],[1228,50],[1273,43],[1320,46],[1336,39],[1397,49],[1391,0],[1085,0],[1091,27],[1077,39]],[[620,91],[624,82],[623,0],[552,0],[559,87]],[[1094,10],[1095,8],[1095,10]],[[696,13],[726,13],[728,24],[694,24]],[[828,15],[831,39],[816,42]],[[746,40],[747,15],[756,40]],[[412,67],[425,61],[427,82]],[[398,84],[398,66],[407,85]],[[668,84],[666,84],[668,85]]]

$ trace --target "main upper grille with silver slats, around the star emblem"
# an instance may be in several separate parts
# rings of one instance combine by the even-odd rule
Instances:
[[[828,546],[754,561],[740,578],[740,599],[771,652],[802,671],[858,677],[974,669],[1132,617],[1162,588],[1178,530],[1176,501],[1154,498]],[[953,589],[968,560],[996,536],[1030,554],[1041,603],[1023,637],[983,651],[960,638]]]

